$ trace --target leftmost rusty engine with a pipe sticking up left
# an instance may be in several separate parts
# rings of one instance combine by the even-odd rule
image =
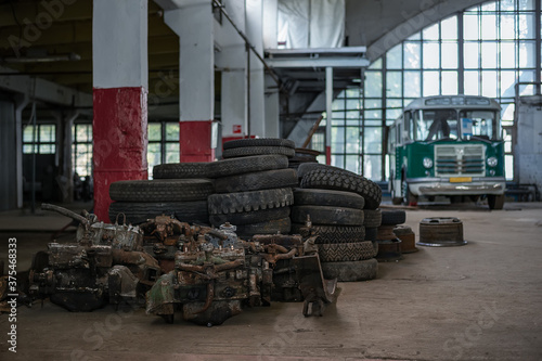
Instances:
[[[92,214],[79,216],[49,204],[41,208],[72,217],[80,224],[75,243],[49,243],[47,252],[35,255],[30,297],[49,297],[70,311],[91,311],[107,301],[137,301],[162,274],[158,262],[142,248],[139,227],[100,222]]]

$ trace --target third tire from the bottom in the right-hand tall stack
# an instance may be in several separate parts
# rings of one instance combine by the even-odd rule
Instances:
[[[292,223],[293,234],[300,234],[302,223]],[[365,228],[363,225],[312,225],[311,231],[318,235],[315,243],[354,243],[365,240]]]

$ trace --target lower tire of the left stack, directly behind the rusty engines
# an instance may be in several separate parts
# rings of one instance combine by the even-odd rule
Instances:
[[[143,223],[147,219],[162,215],[173,216],[181,222],[209,223],[207,201],[162,203],[113,202],[109,205],[109,219],[114,220],[119,212],[125,214],[126,221],[132,224]]]

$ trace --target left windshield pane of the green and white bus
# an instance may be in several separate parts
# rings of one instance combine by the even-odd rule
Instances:
[[[412,121],[414,127],[410,127],[410,136],[416,141],[457,139],[457,113],[454,109],[415,111]]]

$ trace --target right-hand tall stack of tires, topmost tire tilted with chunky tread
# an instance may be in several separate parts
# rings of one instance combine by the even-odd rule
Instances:
[[[310,217],[318,235],[324,276],[341,282],[376,276],[376,249],[365,241],[365,210],[378,208],[382,190],[373,181],[336,167],[299,166],[301,189],[294,192],[293,233],[299,233]]]

